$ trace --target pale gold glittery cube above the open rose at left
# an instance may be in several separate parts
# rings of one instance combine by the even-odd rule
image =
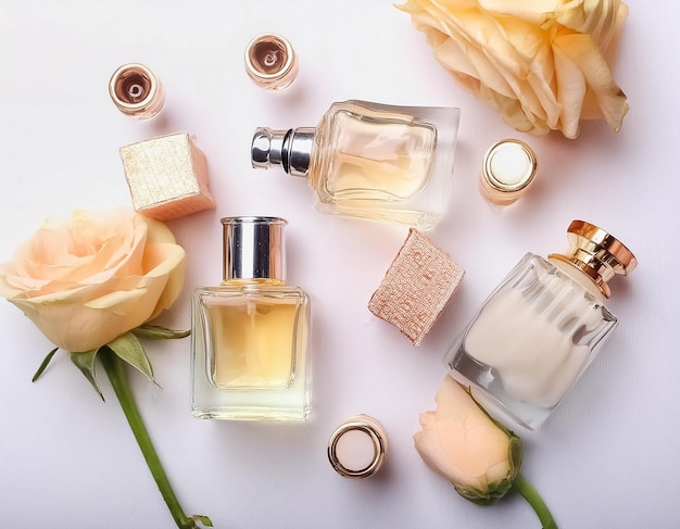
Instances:
[[[121,158],[136,211],[168,221],[215,207],[205,155],[189,134],[122,147]]]

